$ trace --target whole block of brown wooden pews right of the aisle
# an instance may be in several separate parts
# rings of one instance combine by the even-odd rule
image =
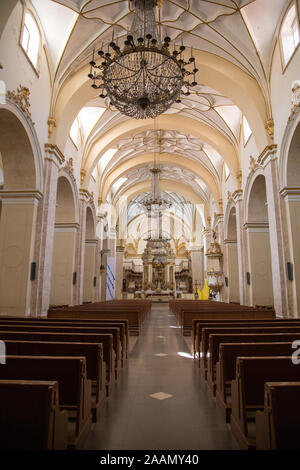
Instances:
[[[195,363],[239,446],[299,449],[300,319],[275,318],[271,310],[232,318],[251,308],[188,302],[171,309],[182,327],[189,312]]]

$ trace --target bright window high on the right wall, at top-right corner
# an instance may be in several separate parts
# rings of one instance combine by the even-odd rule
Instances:
[[[280,43],[284,67],[300,42],[299,21],[295,3],[289,8],[280,30]]]

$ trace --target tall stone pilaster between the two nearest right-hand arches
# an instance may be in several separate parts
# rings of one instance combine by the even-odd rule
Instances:
[[[264,167],[266,178],[274,308],[277,314],[287,316],[287,270],[276,152],[276,146],[267,147],[265,152],[260,155],[258,163]]]

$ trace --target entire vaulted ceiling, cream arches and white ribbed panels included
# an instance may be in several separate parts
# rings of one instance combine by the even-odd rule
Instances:
[[[104,198],[110,194],[117,200],[137,182],[150,181],[151,159],[160,150],[162,179],[188,184],[203,201],[208,201],[210,195],[216,199],[222,172],[237,172],[240,168],[241,119],[248,111],[257,145],[263,146],[267,137],[259,136],[254,127],[264,129],[265,121],[272,117],[270,64],[286,0],[161,1],[157,9],[159,28],[173,42],[183,40],[186,46],[193,46],[199,62],[198,86],[167,111],[169,118],[164,116],[156,123],[149,120],[144,125],[129,123],[129,118],[111,107],[107,99],[97,97],[86,77],[94,48],[100,49],[102,43],[105,48],[113,32],[119,44],[125,39],[133,19],[132,2],[31,1],[47,41],[53,81],[52,113],[58,121],[61,118],[67,123],[63,130],[58,125],[58,140],[65,143],[63,137],[83,107],[100,110],[98,116],[94,113],[92,126],[86,126],[82,167],[90,177],[100,161],[97,171]],[[210,73],[206,73],[206,66]],[[214,79],[214,70],[220,77]],[[224,77],[228,76],[224,84],[223,72]],[[231,72],[236,78],[229,86]],[[235,84],[241,89],[235,90]],[[249,104],[243,91],[244,95],[249,91]],[[160,124],[163,120],[164,127]],[[183,122],[189,123],[185,129]],[[158,136],[162,140],[160,149]],[[107,150],[112,150],[110,158]]]

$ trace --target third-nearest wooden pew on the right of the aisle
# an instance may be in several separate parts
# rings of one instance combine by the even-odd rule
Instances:
[[[231,414],[231,381],[235,379],[238,356],[288,356],[292,341],[286,343],[221,343],[216,364],[216,403],[227,423]]]

